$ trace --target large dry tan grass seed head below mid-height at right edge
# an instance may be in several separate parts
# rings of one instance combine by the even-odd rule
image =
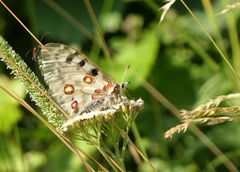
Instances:
[[[185,132],[192,124],[216,125],[223,122],[240,121],[240,106],[220,106],[222,102],[234,98],[240,98],[240,93],[219,96],[192,111],[181,110],[182,124],[166,131],[165,138],[171,138],[176,133]]]

